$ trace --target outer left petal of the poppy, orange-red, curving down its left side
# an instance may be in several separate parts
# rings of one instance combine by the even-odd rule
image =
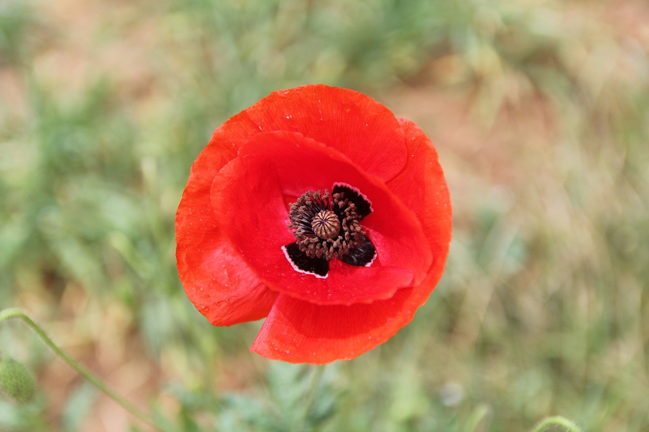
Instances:
[[[237,149],[230,141],[241,131],[237,119],[215,130],[210,144],[191,166],[176,213],[180,282],[191,302],[215,326],[263,318],[277,296],[260,282],[223,235],[210,202],[212,181],[236,156]]]

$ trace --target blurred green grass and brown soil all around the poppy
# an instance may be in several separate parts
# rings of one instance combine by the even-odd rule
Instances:
[[[313,82],[418,123],[455,213],[413,322],[317,386],[191,306],[173,230],[214,128]],[[0,307],[169,431],[647,431],[648,220],[644,0],[0,1]],[[149,430],[21,323],[0,353],[40,383],[0,430]]]

